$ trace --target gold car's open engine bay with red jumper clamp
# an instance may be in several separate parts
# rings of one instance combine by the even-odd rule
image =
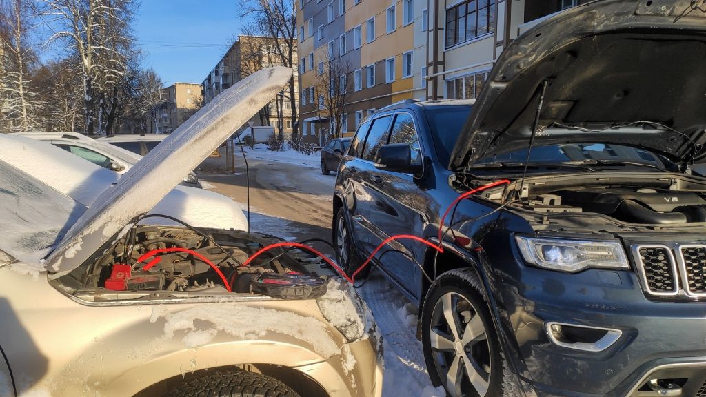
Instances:
[[[302,249],[275,249],[280,242],[234,230],[138,225],[104,254],[70,273],[80,289],[97,292],[168,292],[268,295],[283,299],[318,297],[326,280],[312,267],[320,261]],[[246,266],[244,266],[246,264]]]

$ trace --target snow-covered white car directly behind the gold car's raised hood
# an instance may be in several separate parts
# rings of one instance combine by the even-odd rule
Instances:
[[[120,174],[84,160],[82,156],[27,136],[0,134],[0,147],[0,158],[8,165],[31,174],[83,206],[92,206],[100,194],[121,178]],[[243,211],[231,198],[187,186],[169,191],[150,212],[170,215],[198,227],[248,228]],[[174,225],[167,219],[150,218],[150,223]]]

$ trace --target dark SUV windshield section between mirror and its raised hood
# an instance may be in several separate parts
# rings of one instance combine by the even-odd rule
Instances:
[[[426,119],[429,121],[431,137],[434,140],[436,155],[444,166],[448,165],[453,147],[456,145],[458,135],[466,123],[471,106],[434,106],[429,107]]]

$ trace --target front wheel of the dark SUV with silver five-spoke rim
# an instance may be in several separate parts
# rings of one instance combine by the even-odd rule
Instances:
[[[456,269],[439,276],[424,300],[421,322],[424,360],[434,386],[443,386],[453,397],[506,395],[503,385],[511,384],[510,372],[474,271]]]

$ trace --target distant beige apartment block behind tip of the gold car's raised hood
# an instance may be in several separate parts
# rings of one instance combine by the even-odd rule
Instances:
[[[282,62],[275,48],[273,48],[274,45],[283,46],[285,44],[283,42],[275,42],[272,37],[238,36],[237,40],[201,83],[204,105],[251,73],[271,66],[281,65]],[[296,51],[294,52],[294,62],[297,62]],[[298,85],[299,79],[294,76],[295,92],[298,91]],[[253,122],[255,126],[275,126],[275,131],[277,131],[281,114],[282,130],[285,133],[285,139],[289,139],[292,134],[292,104],[288,95],[289,93],[285,89],[282,95],[273,99],[267,107],[253,116],[250,122]],[[236,132],[240,132],[246,127],[247,124],[241,126]]]

